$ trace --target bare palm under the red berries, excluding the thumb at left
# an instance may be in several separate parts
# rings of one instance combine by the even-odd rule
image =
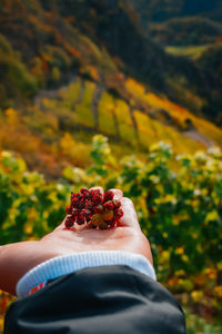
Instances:
[[[152,263],[150,245],[138,223],[134,206],[129,198],[119,199],[122,203],[123,218],[121,226],[98,230],[85,226],[65,229],[62,223],[51,234],[43,237],[44,249],[53,249],[57,255],[91,250],[123,250],[145,256]]]

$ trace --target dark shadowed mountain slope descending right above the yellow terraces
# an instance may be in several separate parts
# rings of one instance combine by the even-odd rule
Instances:
[[[220,79],[206,69],[200,70],[188,59],[169,56],[160,46],[144,37],[137,24],[137,18],[124,2],[103,0],[98,3],[90,0],[84,17],[90,26],[85,27],[85,22],[80,20],[78,27],[83,29],[83,32],[87,32],[100,48],[105,46],[112,57],[120,58],[127,73],[192,109],[193,104],[190,101],[184,104],[184,99],[174,91],[175,85],[181,86],[181,91],[184,88],[203,98],[202,111],[209,118],[211,115],[208,110],[218,112],[221,105]],[[198,108],[193,109],[196,110]]]

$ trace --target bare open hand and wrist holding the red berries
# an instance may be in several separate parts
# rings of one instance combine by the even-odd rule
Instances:
[[[102,188],[99,188],[103,191]],[[145,256],[152,264],[150,244],[143,235],[132,202],[122,191],[112,189],[121,202],[121,225],[109,229],[92,229],[74,225],[71,229],[62,222],[41,240],[16,243],[0,247],[0,288],[16,293],[16,284],[28,271],[56,256],[90,250],[124,250]]]

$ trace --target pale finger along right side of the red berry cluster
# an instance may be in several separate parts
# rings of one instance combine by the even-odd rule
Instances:
[[[128,197],[121,199],[121,208],[123,210],[123,216],[120,219],[122,226],[133,227],[138,230],[141,230],[140,224],[138,222],[138,216],[135,213],[134,205],[132,200]]]

